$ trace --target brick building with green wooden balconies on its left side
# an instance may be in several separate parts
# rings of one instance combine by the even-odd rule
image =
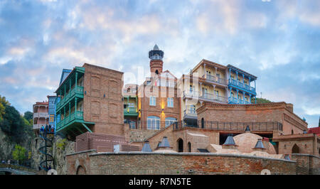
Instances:
[[[57,133],[123,135],[122,72],[85,63],[61,79],[55,108]]]

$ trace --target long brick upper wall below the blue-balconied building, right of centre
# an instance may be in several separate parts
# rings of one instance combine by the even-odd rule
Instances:
[[[205,103],[197,109],[198,120],[230,122],[268,122],[283,124],[283,134],[302,134],[307,123],[291,112],[285,102],[265,104],[215,104]]]

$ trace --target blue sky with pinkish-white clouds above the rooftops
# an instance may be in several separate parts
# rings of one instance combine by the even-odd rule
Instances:
[[[63,68],[83,63],[141,83],[132,75],[149,75],[154,44],[176,77],[202,59],[235,65],[258,77],[257,97],[292,103],[318,126],[318,0],[1,0],[0,95],[32,111],[54,95]]]

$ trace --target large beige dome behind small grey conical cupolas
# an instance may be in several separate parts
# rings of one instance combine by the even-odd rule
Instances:
[[[257,144],[258,139],[262,139],[262,136],[252,133],[243,133],[233,136],[235,140],[235,145],[238,145],[238,150],[242,153],[251,153],[254,151],[255,145]],[[276,154],[274,146],[268,142],[268,146],[264,146],[267,149],[267,153]]]

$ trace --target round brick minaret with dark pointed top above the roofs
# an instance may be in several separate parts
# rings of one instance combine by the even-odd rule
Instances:
[[[159,50],[158,45],[154,45],[154,50],[149,51],[149,58],[151,77],[159,75],[162,72],[164,65],[164,62],[162,61],[162,58],[164,58],[164,51]]]

